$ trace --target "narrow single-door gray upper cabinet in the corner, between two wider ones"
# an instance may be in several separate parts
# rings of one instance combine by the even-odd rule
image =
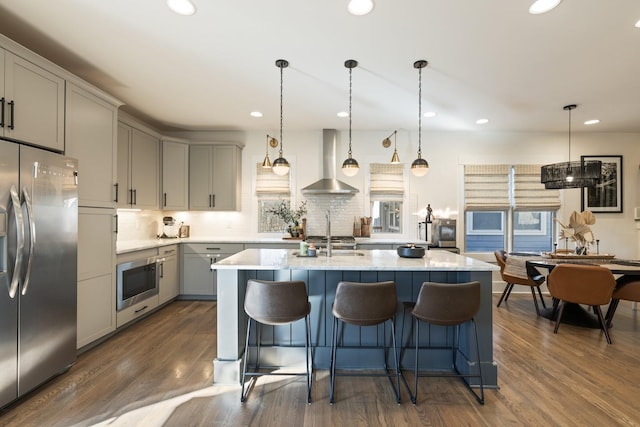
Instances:
[[[162,140],[161,208],[189,209],[189,145],[171,139]]]

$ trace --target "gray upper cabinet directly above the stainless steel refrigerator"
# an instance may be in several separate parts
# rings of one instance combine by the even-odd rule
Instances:
[[[0,137],[63,152],[64,84],[62,77],[0,49]]]

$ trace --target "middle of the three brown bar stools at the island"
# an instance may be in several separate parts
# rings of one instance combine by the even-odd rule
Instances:
[[[340,376],[386,376],[400,403],[400,365],[398,363],[398,348],[396,346],[395,315],[397,309],[397,295],[395,282],[340,282],[336,289],[333,302],[333,328],[331,333],[331,363],[329,403],[334,403],[335,377]],[[384,374],[340,373],[336,374],[336,353],[338,348],[339,323],[357,326],[374,326],[385,322],[390,323],[391,341],[393,347],[395,373],[389,372],[387,367],[387,347],[383,344]],[[386,339],[385,339],[386,341]],[[395,385],[393,381],[395,377]]]

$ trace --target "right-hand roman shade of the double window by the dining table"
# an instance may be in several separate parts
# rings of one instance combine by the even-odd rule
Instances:
[[[515,210],[560,209],[560,191],[547,190],[540,182],[540,165],[515,165],[513,207]]]

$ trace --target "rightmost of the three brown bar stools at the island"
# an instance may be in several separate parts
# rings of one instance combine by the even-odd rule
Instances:
[[[480,345],[478,343],[478,328],[474,316],[480,309],[480,282],[467,283],[435,283],[424,282],[418,294],[418,300],[411,314],[414,317],[415,336],[415,366],[414,366],[414,390],[409,390],[411,401],[415,404],[418,395],[418,377],[459,377],[467,388],[473,393],[476,400],[484,405],[484,383],[482,381],[482,367],[480,363]],[[420,322],[431,325],[454,326],[453,340],[451,346],[446,347],[423,347],[423,349],[451,349],[451,371],[447,372],[418,372],[419,347],[420,347]],[[457,356],[460,352],[460,325],[470,322],[473,326],[475,337],[475,352],[478,366],[478,373],[461,373],[457,365]],[[464,355],[463,355],[464,356]],[[480,394],[476,393],[465,378],[478,378],[480,380]],[[403,376],[404,380],[404,376]]]

